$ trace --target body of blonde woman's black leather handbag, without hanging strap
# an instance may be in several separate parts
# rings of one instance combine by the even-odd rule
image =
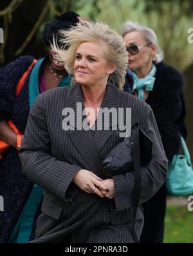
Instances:
[[[136,145],[134,136],[139,137],[139,145]],[[134,170],[134,148],[140,150],[141,166],[151,161],[152,140],[134,124],[131,136],[125,137],[124,141],[118,143],[102,162],[102,173],[107,177],[124,174]],[[136,152],[137,153],[137,152]]]

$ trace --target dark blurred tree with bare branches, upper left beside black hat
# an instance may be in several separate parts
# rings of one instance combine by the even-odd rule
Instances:
[[[89,17],[97,15],[96,0],[90,0]],[[44,55],[41,32],[46,21],[68,10],[78,10],[87,0],[1,0],[0,27],[3,28],[4,44],[0,44],[0,65],[21,54],[35,57]]]

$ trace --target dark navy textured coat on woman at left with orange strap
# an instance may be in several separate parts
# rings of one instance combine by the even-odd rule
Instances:
[[[18,97],[15,97],[15,87],[33,59],[34,57],[30,55],[21,56],[0,69],[0,121],[12,119],[22,134],[24,134],[30,112],[29,76]],[[18,150],[10,146],[2,155],[0,195],[3,196],[5,210],[0,212],[0,243],[8,242],[33,186],[32,182],[21,173]]]

